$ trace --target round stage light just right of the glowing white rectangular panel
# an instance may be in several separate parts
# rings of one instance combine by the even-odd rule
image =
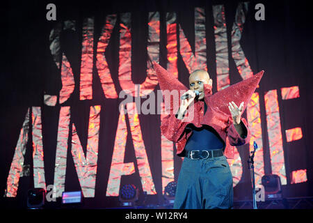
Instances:
[[[120,188],[119,200],[122,206],[134,206],[138,201],[138,189],[133,184],[123,185]]]

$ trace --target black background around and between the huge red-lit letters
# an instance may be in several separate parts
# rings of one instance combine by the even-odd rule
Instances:
[[[161,22],[160,64],[166,67],[166,12],[177,12],[177,20],[194,50],[194,8],[203,7],[207,20],[207,66],[211,78],[214,79],[216,92],[216,59],[213,16],[211,7],[216,4],[225,5],[227,36],[230,32],[239,1],[10,1],[1,3],[1,125],[0,125],[0,197],[1,206],[20,207],[26,205],[26,192],[33,187],[32,177],[19,179],[19,190],[16,198],[3,198],[6,179],[13,159],[14,149],[19,137],[26,111],[29,107],[42,107],[42,134],[45,148],[45,176],[47,185],[53,184],[54,162],[56,151],[56,136],[58,129],[58,111],[60,105],[47,107],[43,105],[44,92],[50,95],[61,90],[60,72],[55,66],[49,50],[49,32],[56,22],[76,20],[75,32],[65,31],[61,35],[61,50],[70,61],[74,78],[75,90],[64,105],[71,106],[71,123],[75,123],[81,144],[86,151],[88,116],[91,105],[102,105],[99,156],[95,198],[86,199],[85,207],[109,208],[118,205],[116,197],[105,197],[106,184],[109,179],[109,167],[115,132],[118,124],[119,99],[106,99],[99,84],[97,71],[93,72],[93,100],[79,100],[79,74],[81,63],[81,27],[84,17],[95,16],[95,47],[104,25],[106,15],[131,12],[132,35],[132,76],[135,84],[141,84],[146,77],[147,15],[148,12],[159,11]],[[264,168],[265,174],[271,173],[269,164],[269,146],[266,131],[266,114],[264,93],[278,90],[280,105],[280,121],[282,125],[282,140],[286,164],[287,185],[283,187],[285,197],[313,196],[313,153],[312,153],[312,21],[310,1],[250,1],[246,23],[241,38],[241,47],[254,73],[265,70],[264,77],[257,89],[260,98],[262,119]],[[47,3],[55,3],[57,21],[46,20]],[[265,21],[256,21],[254,6],[264,3]],[[117,24],[119,19],[117,21]],[[178,36],[178,35],[177,35]],[[118,93],[121,87],[118,82],[118,26],[115,26],[106,57],[111,70],[113,82]],[[230,82],[234,84],[241,80],[239,72],[231,56]],[[178,55],[179,80],[187,85],[188,71],[182,57]],[[300,98],[281,100],[280,88],[299,86]],[[159,89],[159,86],[154,90]],[[244,114],[246,116],[246,114]],[[161,139],[159,131],[159,116],[139,116],[143,140],[150,162],[150,169],[156,195],[147,197],[147,203],[162,203],[161,197]],[[71,124],[72,125],[72,124]],[[70,126],[71,126],[70,125]],[[155,126],[154,130],[151,130]],[[287,143],[284,130],[300,127],[303,138]],[[127,121],[129,130],[129,123]],[[31,131],[31,130],[30,130]],[[72,128],[70,128],[72,132]],[[31,132],[30,132],[31,133]],[[130,133],[130,131],[129,131]],[[31,137],[31,134],[30,134]],[[69,137],[69,141],[71,137]],[[77,173],[74,169],[70,144],[67,154],[67,173],[65,190],[80,190]],[[239,185],[234,188],[234,199],[251,199],[250,173],[247,169],[248,146],[240,150],[243,162],[243,176]],[[152,158],[153,157],[153,158]],[[121,185],[135,183],[141,188],[136,167],[134,147],[131,136],[127,136],[125,162],[135,162],[136,173],[122,176]],[[25,164],[32,165],[31,138],[26,151]],[[175,178],[177,179],[181,160],[175,156]],[[291,185],[290,173],[296,169],[307,169],[307,182]],[[143,201],[143,194],[140,196]]]

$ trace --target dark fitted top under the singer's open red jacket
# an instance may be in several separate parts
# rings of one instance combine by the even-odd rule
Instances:
[[[204,102],[204,114],[205,112],[207,112],[207,105]],[[196,128],[195,125],[189,124],[186,128],[192,130],[191,137],[186,142],[186,151],[209,151],[224,148],[225,146],[223,139],[220,139],[216,130],[209,125],[202,125],[202,127]]]

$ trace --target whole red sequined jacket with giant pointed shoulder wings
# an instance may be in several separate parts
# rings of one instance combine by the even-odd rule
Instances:
[[[157,72],[160,89],[163,91],[163,97],[167,97],[166,93],[177,90],[187,91],[188,89],[184,84],[179,82],[173,75],[162,68],[158,63],[154,62],[154,70]],[[250,141],[250,130],[248,129],[248,123],[245,118],[241,118],[242,123],[247,129],[246,138],[242,138],[234,127],[230,110],[228,109],[229,102],[235,102],[236,105],[240,105],[244,102],[243,111],[248,105],[252,93],[255,92],[259,81],[263,76],[264,70],[258,72],[256,75],[233,84],[217,93],[212,94],[211,86],[204,84],[204,101],[207,104],[207,112],[204,114],[204,102],[201,100],[194,100],[193,105],[188,107],[188,112],[193,111],[193,118],[186,121],[186,118],[180,120],[176,118],[175,114],[178,110],[177,106],[170,105],[171,114],[164,117],[161,121],[161,132],[169,139],[177,143],[177,155],[182,153],[188,137],[191,136],[191,132],[184,131],[186,125],[193,123],[196,127],[202,125],[209,125],[225,142],[225,157],[232,159],[234,157],[234,147],[248,144]],[[168,91],[166,91],[168,90]]]

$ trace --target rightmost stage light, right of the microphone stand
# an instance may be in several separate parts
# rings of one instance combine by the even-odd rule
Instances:
[[[280,177],[275,174],[266,174],[262,176],[262,185],[265,190],[265,199],[280,199],[282,198],[282,183]]]

